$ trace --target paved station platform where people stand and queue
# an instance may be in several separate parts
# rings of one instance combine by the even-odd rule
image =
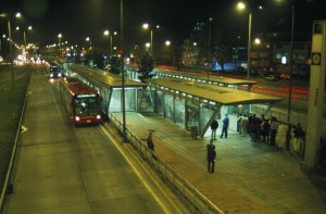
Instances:
[[[122,121],[121,113],[114,116]],[[126,127],[140,139],[154,130],[156,155],[224,213],[325,213],[326,191],[301,171],[301,158],[277,146],[229,130],[227,138],[214,141],[215,172],[210,174],[210,136],[192,139],[190,131],[154,113],[126,113]]]

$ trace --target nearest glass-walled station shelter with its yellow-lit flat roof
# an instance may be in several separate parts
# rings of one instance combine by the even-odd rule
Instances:
[[[264,103],[271,106],[280,98],[240,91],[206,83],[181,78],[148,79],[148,90],[155,113],[190,130],[197,127],[204,136],[213,118],[223,119],[228,114],[229,128],[237,128],[240,110],[250,112],[250,105]],[[269,108],[268,108],[269,109]]]

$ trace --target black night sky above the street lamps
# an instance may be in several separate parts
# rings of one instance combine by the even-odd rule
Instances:
[[[259,0],[252,0],[258,2]],[[252,33],[268,30],[271,25],[289,24],[290,0],[261,0],[266,8],[252,10]],[[280,0],[279,0],[280,1]],[[296,30],[311,32],[314,20],[326,20],[323,0],[293,0],[296,3]],[[213,17],[214,30],[233,29],[235,34],[248,34],[248,13],[236,11],[236,0],[124,0],[125,42],[137,43],[149,38],[141,29],[145,22],[161,26],[154,39],[181,42],[196,22]],[[58,42],[58,34],[70,43],[85,43],[90,37],[92,46],[103,46],[108,38],[104,29],[120,32],[120,0],[0,0],[0,12],[14,14],[20,11],[24,18],[11,18],[12,28],[32,25],[29,42],[50,45]],[[325,10],[324,10],[325,11]],[[0,33],[8,34],[7,22],[0,20]],[[289,29],[290,30],[290,29]],[[13,38],[22,42],[22,36],[13,32]],[[106,39],[106,40],[105,40]],[[115,42],[118,42],[118,38]]]

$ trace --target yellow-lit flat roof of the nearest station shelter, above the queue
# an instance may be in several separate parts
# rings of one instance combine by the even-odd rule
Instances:
[[[162,91],[173,91],[175,95],[185,93],[186,98],[189,98],[188,95],[191,95],[192,97],[213,101],[223,105],[274,103],[283,100],[279,97],[236,90],[228,87],[173,77],[147,79],[147,83]]]

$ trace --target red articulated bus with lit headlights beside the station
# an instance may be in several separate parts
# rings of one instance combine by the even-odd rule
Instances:
[[[60,80],[60,96],[75,125],[102,123],[102,99],[93,88],[77,78],[65,77]]]

